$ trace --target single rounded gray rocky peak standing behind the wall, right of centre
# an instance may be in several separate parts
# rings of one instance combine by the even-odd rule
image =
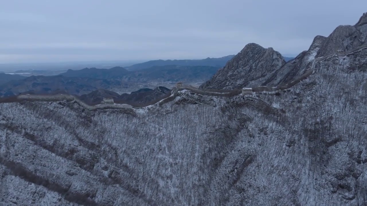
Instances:
[[[202,84],[203,89],[234,89],[262,85],[286,61],[273,48],[247,44],[214,76]]]

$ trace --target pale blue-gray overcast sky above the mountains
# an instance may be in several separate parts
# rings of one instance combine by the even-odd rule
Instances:
[[[0,63],[217,58],[248,43],[296,56],[363,12],[366,0],[2,1]]]

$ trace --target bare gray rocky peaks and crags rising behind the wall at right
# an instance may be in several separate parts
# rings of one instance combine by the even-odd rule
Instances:
[[[365,13],[356,25],[338,26],[328,37],[316,36],[307,51],[301,52],[287,63],[279,63],[279,53],[272,48],[267,49],[268,55],[264,55],[264,48],[253,43],[248,44],[209,81],[202,84],[201,88],[226,89],[253,87],[256,84],[264,86],[287,84],[294,77],[312,69],[315,59],[356,51],[366,44],[367,15]],[[235,82],[236,85],[234,85]]]

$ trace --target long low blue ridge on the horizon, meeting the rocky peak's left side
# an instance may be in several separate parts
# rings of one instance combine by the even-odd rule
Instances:
[[[206,58],[197,60],[152,60],[144,63],[139,63],[125,67],[129,71],[137,71],[142,69],[147,69],[153,66],[166,66],[166,65],[178,65],[178,66],[214,66],[214,67],[224,67],[226,63],[233,58],[235,55],[228,55],[221,58]]]

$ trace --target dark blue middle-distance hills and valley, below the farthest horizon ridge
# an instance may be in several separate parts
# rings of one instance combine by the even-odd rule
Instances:
[[[0,74],[17,78],[0,85],[0,97],[32,92],[37,94],[69,93],[84,95],[97,89],[119,92],[139,85],[172,84],[176,82],[204,82],[218,70],[211,66],[154,66],[140,71],[127,71],[123,67],[111,69],[69,69],[57,76],[31,76]],[[9,78],[9,79],[11,79]],[[129,89],[131,88],[131,89]]]

